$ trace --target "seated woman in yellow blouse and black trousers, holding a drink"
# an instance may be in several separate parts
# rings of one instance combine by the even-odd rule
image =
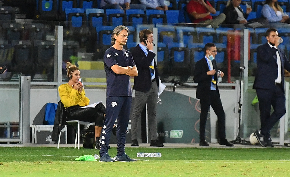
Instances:
[[[66,64],[68,83],[58,87],[61,102],[68,113],[66,120],[80,120],[84,122],[95,122],[95,148],[100,149],[100,135],[104,122],[106,108],[102,103],[95,108],[82,108],[89,104],[90,100],[86,97],[85,90],[79,82],[80,71],[77,66],[70,62]]]

